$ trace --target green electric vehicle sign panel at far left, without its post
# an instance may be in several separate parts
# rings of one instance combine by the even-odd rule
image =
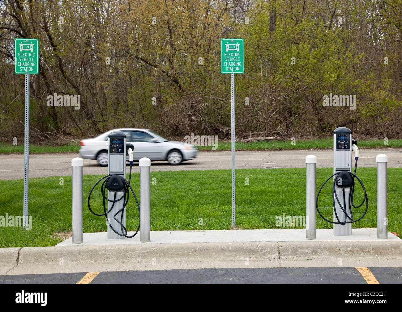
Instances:
[[[39,72],[38,39],[14,40],[15,73],[37,74]]]

